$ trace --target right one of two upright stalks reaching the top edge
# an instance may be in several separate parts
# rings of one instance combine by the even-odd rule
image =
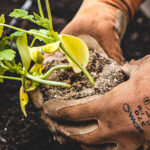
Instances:
[[[45,2],[46,2],[47,13],[48,13],[48,19],[49,19],[49,28],[50,28],[50,32],[52,32],[53,24],[52,24],[52,15],[51,15],[49,0],[45,0]]]

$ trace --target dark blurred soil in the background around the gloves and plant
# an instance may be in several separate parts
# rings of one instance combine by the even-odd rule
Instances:
[[[23,2],[1,0],[0,14],[8,15],[13,8],[20,8]],[[74,16],[81,2],[82,0],[53,1],[52,14],[57,31]],[[36,2],[31,10],[37,12]],[[29,24],[21,22],[20,26],[29,27]],[[126,60],[150,54],[150,21],[140,11],[129,24],[121,47]],[[31,101],[27,106],[28,117],[24,118],[19,105],[19,87],[20,83],[15,81],[0,84],[0,150],[77,150],[73,145],[59,145],[52,140]]]

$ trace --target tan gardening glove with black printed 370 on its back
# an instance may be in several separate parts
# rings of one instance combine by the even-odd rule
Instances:
[[[105,95],[80,100],[48,100],[43,119],[57,140],[73,139],[98,146],[115,143],[118,150],[150,146],[150,55],[125,64],[129,80]],[[89,148],[89,150],[91,150]]]

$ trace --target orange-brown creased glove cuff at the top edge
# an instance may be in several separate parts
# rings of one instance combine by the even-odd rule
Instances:
[[[120,9],[122,12],[124,12],[128,21],[133,18],[135,12],[140,7],[140,4],[144,2],[144,0],[99,0],[99,1]]]

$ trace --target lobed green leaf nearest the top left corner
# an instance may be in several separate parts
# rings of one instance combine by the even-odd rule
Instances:
[[[28,12],[22,9],[15,9],[13,12],[9,14],[10,17],[14,18],[22,18],[32,20],[34,18],[33,15],[28,15]]]

